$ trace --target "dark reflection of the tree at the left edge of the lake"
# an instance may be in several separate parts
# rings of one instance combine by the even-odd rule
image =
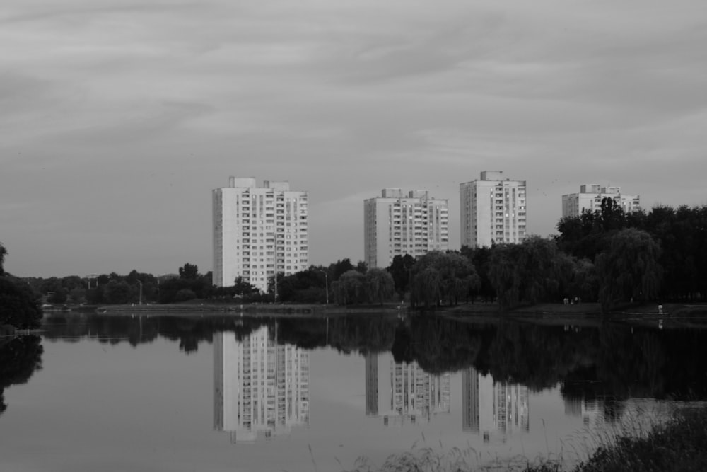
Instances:
[[[4,390],[14,384],[24,384],[36,370],[42,368],[41,338],[35,335],[0,340],[0,414],[7,405]]]

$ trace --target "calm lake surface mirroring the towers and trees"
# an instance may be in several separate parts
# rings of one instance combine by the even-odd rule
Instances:
[[[707,331],[578,323],[48,316],[0,338],[0,470],[343,471],[425,448],[571,463],[707,397]]]

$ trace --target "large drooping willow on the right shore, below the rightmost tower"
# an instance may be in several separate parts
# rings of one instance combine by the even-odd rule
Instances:
[[[606,312],[617,304],[648,301],[658,295],[662,267],[660,245],[640,229],[623,229],[597,255],[599,301]]]

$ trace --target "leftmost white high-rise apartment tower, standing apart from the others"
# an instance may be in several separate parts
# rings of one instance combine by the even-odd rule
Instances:
[[[213,190],[214,285],[228,287],[243,277],[267,292],[275,271],[285,275],[309,263],[307,192],[287,182],[231,177]]]

